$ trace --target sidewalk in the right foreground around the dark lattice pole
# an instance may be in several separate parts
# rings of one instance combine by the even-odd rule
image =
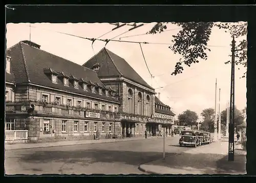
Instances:
[[[228,162],[228,143],[214,142],[140,165],[139,169],[152,174],[246,174],[246,152],[237,148],[234,162]]]

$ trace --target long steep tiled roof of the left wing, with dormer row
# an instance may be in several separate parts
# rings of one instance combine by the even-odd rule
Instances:
[[[69,87],[64,86],[62,80],[60,80],[61,77],[58,77],[58,83],[54,84],[51,81],[51,75],[45,73],[46,69],[51,68],[51,70],[58,72],[59,76],[68,75],[70,76],[70,79],[79,78],[80,80],[82,78],[85,81],[91,81],[93,83],[103,85],[97,77],[97,73],[87,67],[38,48],[31,47],[22,41],[8,49],[6,54],[11,57],[11,68],[17,83],[30,82],[33,84],[118,102],[115,98],[99,95],[97,91],[96,93],[92,93],[90,91],[90,87],[88,88],[89,91],[84,91],[82,85],[79,85],[79,89],[74,88],[71,83]]]

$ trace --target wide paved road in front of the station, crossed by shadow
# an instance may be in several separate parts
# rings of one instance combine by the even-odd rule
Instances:
[[[166,156],[184,152],[179,136],[166,139]],[[162,157],[163,140],[7,150],[6,174],[143,174],[140,164]]]

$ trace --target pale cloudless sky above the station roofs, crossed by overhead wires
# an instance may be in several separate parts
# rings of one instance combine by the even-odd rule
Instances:
[[[142,23],[137,23],[137,25],[140,24]],[[90,40],[58,32],[87,38],[97,38],[105,34],[100,39],[112,39],[117,36],[115,40],[171,43],[173,35],[180,30],[180,27],[174,24],[167,24],[166,30],[170,31],[154,35],[145,34],[155,24],[156,22],[145,23],[129,32],[126,31],[132,27],[126,25],[108,34],[105,33],[115,28],[108,23],[37,23],[31,24],[31,27],[24,23],[7,24],[6,47],[12,47],[21,40],[31,39],[41,45],[41,50],[82,65],[98,53],[105,46],[105,42],[95,41],[92,47]],[[185,66],[184,72],[176,76],[171,76],[170,73],[174,71],[175,63],[179,61],[179,54],[174,54],[168,48],[168,44],[141,44],[147,66],[154,76],[153,79],[147,70],[138,43],[110,41],[105,47],[124,58],[148,84],[152,85],[155,91],[160,93],[160,100],[176,113],[176,118],[179,113],[187,109],[197,112],[200,117],[203,109],[215,108],[216,78],[217,106],[219,106],[219,88],[221,88],[221,111],[226,108],[227,101],[230,99],[231,65],[224,62],[230,59],[228,55],[231,54],[231,40],[229,33],[214,27],[208,41],[208,48],[211,50],[207,52],[208,59],[200,60],[199,63],[192,64],[190,67]],[[239,70],[236,66],[235,105],[240,110],[246,106],[246,78],[240,78],[245,71],[244,67],[240,66]],[[219,107],[217,107],[218,110]]]

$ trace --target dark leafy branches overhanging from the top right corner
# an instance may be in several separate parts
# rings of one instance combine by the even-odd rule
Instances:
[[[149,34],[156,34],[164,32],[167,28],[168,22],[157,23],[150,31]],[[182,73],[183,66],[190,66],[193,63],[198,63],[199,59],[207,60],[207,52],[210,49],[207,48],[207,43],[211,34],[212,27],[216,26],[219,29],[224,29],[225,32],[229,32],[231,37],[242,37],[247,34],[247,22],[238,23],[222,23],[222,22],[182,22],[176,23],[182,29],[177,35],[174,35],[174,45],[169,47],[175,54],[180,54],[182,58],[176,63],[175,70],[172,75]],[[236,65],[242,65],[247,68],[247,40],[243,39],[237,45],[237,49],[242,49],[235,53],[237,59],[235,59]],[[230,60],[225,62],[231,63]],[[245,74],[242,77],[245,77]]]

